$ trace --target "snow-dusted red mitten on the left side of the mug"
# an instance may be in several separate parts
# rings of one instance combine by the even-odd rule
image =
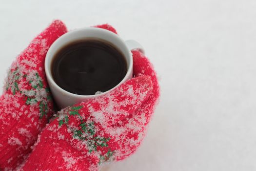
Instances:
[[[0,170],[13,170],[22,162],[53,114],[44,58],[66,31],[61,21],[54,21],[11,65],[0,97]]]

